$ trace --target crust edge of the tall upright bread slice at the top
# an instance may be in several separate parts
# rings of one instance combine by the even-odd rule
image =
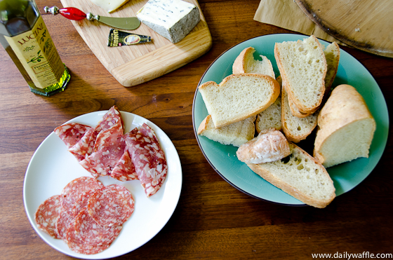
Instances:
[[[279,68],[280,74],[281,74],[281,78],[283,83],[286,83],[286,90],[288,92],[288,97],[293,101],[293,104],[295,104],[295,106],[298,108],[298,110],[304,114],[312,114],[312,111],[315,111],[319,105],[322,102],[322,99],[324,98],[324,93],[325,93],[325,76],[326,76],[326,70],[327,70],[327,64],[326,64],[326,58],[325,58],[325,54],[324,54],[324,50],[322,48],[321,43],[319,43],[317,37],[315,37],[314,35],[309,36],[310,39],[312,39],[313,41],[315,41],[315,43],[317,43],[317,46],[319,47],[318,50],[320,52],[320,62],[324,63],[324,71],[322,71],[322,73],[324,74],[323,77],[321,77],[321,80],[319,82],[319,100],[316,104],[314,104],[314,107],[305,107],[304,104],[302,104],[302,102],[300,102],[300,100],[298,100],[295,97],[295,94],[293,93],[293,87],[291,82],[288,81],[288,75],[286,74],[286,69],[284,69],[284,65],[282,64],[283,61],[283,57],[280,53],[279,50],[279,43],[276,43],[274,46],[274,57],[276,58],[276,62],[277,62],[277,67]]]

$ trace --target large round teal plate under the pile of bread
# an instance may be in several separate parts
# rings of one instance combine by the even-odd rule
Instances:
[[[279,76],[274,59],[274,43],[282,41],[298,41],[307,36],[300,34],[269,34],[249,39],[233,46],[229,50],[222,53],[206,70],[202,76],[199,85],[206,81],[215,81],[220,83],[223,78],[232,74],[232,64],[241,50],[252,46],[255,48],[255,59],[259,59],[259,55],[265,55],[273,64],[274,73]],[[329,43],[319,40],[321,44],[327,46]],[[389,132],[389,116],[387,113],[387,105],[382,92],[370,72],[352,55],[341,50],[340,64],[338,72],[333,83],[333,88],[340,84],[348,84],[354,86],[364,97],[370,109],[371,114],[375,118],[377,129],[370,147],[368,158],[358,158],[348,163],[342,163],[333,167],[328,167],[328,173],[333,179],[336,196],[350,191],[361,183],[373,171],[375,165],[382,157],[387,143],[387,135]],[[198,141],[201,151],[204,153],[206,160],[211,164],[213,169],[225,179],[229,184],[239,191],[250,196],[267,200],[272,203],[284,205],[305,205],[300,200],[293,198],[281,189],[269,184],[265,179],[256,175],[251,171],[245,163],[237,159],[237,147],[232,145],[223,145],[213,142],[206,137],[200,137],[196,134],[201,121],[208,116],[204,100],[198,89],[194,95],[194,104],[192,107],[192,123],[196,140]],[[310,138],[312,138],[310,136]],[[309,138],[307,138],[309,139]],[[312,142],[314,142],[312,140]],[[302,147],[302,142],[300,146]],[[306,150],[307,151],[307,150]]]

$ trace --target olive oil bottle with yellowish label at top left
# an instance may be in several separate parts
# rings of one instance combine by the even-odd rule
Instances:
[[[32,93],[65,90],[70,75],[34,0],[0,0],[0,42]]]

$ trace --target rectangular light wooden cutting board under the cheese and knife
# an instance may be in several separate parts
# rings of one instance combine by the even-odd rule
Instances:
[[[90,0],[60,1],[63,7],[76,7],[84,13],[109,17],[135,16],[135,13],[147,2],[147,0],[130,0],[116,11],[107,13],[103,8],[91,3]],[[182,41],[175,44],[141,23],[138,29],[133,31],[121,29],[121,31],[151,36],[151,43],[108,47],[109,29],[112,27],[87,19],[72,21],[72,24],[112,76],[121,85],[130,87],[178,69],[200,57],[211,48],[211,34],[198,1],[187,1],[199,8],[201,22]],[[59,19],[66,19],[60,17]]]

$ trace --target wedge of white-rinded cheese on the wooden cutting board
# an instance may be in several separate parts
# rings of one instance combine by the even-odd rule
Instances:
[[[181,0],[149,0],[136,16],[172,43],[181,41],[201,20],[199,8]]]

